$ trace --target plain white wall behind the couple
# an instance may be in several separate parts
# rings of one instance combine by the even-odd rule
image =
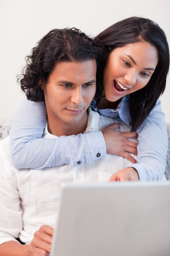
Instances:
[[[130,16],[156,21],[170,45],[170,0],[0,0],[0,118],[13,118],[24,97],[16,75],[25,65],[25,56],[48,31],[77,27],[95,36]],[[170,122],[170,75],[161,101]]]

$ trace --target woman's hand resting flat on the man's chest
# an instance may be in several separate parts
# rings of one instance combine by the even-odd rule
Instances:
[[[137,143],[130,141],[128,138],[137,138],[137,132],[119,132],[115,130],[119,126],[120,124],[111,124],[102,130],[106,143],[106,151],[108,154],[125,157],[135,164],[137,163],[136,159],[129,153],[137,155]]]

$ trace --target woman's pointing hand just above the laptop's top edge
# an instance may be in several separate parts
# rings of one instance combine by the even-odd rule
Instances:
[[[127,167],[121,169],[110,177],[109,181],[127,181],[127,180],[139,180],[139,175],[135,168]]]

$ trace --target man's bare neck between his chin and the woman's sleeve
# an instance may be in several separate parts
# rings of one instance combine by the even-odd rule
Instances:
[[[57,137],[77,135],[79,133],[84,133],[84,131],[86,130],[88,122],[88,113],[86,111],[82,119],[75,124],[64,123],[62,121],[50,117],[48,117],[47,120],[48,131],[51,134],[56,135]]]

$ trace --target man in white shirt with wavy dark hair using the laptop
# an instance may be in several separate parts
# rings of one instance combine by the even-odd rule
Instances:
[[[54,29],[33,48],[21,84],[29,99],[45,100],[44,138],[102,130],[113,123],[89,108],[98,90],[96,73],[102,56],[100,43],[76,29]],[[120,129],[129,130],[124,124]],[[98,158],[76,167],[17,170],[9,156],[9,137],[2,140],[0,256],[49,255],[61,183],[108,182],[128,163],[110,154]]]

